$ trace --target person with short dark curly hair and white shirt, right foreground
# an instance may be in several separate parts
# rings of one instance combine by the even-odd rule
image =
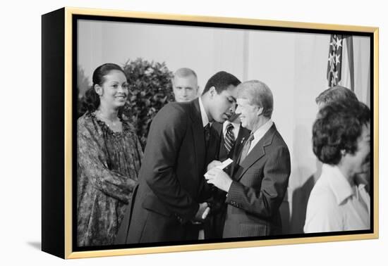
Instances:
[[[304,232],[370,229],[370,196],[357,174],[370,170],[370,110],[358,101],[330,103],[313,126],[313,151],[324,163],[308,199]]]

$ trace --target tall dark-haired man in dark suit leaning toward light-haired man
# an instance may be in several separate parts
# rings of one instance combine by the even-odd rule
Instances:
[[[210,186],[203,175],[217,153],[213,121],[224,122],[241,82],[217,72],[200,98],[169,103],[152,120],[126,243],[198,239]]]

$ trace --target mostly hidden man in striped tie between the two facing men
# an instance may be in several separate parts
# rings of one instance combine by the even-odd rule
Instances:
[[[219,136],[219,151],[217,159],[221,162],[231,158],[236,161],[245,138],[249,137],[250,130],[241,126],[240,114],[233,113],[229,120],[224,123],[214,122],[212,127],[216,130]],[[212,167],[212,165],[210,165]],[[228,175],[231,175],[231,165],[224,169]],[[224,222],[226,216],[226,192],[221,189],[213,191],[212,213],[209,219],[205,222],[205,239],[222,239],[222,232],[224,231]]]

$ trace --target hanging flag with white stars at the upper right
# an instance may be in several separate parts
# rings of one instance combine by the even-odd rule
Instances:
[[[332,34],[327,60],[327,81],[329,87],[341,85],[354,90],[353,38]]]

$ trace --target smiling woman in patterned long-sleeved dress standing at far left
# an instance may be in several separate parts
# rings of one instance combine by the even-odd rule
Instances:
[[[140,142],[131,124],[121,119],[128,83],[119,65],[100,65],[78,118],[77,243],[114,243],[137,184]]]

